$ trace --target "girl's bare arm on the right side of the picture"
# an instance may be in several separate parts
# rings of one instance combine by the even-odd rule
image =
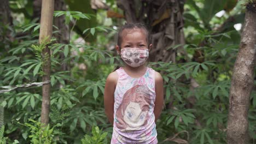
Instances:
[[[164,104],[164,82],[160,73],[155,71],[155,122],[158,120],[161,111],[162,105]]]

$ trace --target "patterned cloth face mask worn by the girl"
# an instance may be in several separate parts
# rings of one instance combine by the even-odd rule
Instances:
[[[148,49],[124,48],[121,49],[121,58],[131,67],[139,67],[147,61]]]

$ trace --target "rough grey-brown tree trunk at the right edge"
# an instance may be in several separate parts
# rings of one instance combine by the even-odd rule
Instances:
[[[229,94],[227,140],[229,144],[248,143],[249,97],[253,88],[256,53],[256,3],[248,3],[240,49],[232,74]]]

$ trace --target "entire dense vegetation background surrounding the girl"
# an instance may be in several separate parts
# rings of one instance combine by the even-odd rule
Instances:
[[[1,141],[110,143],[103,91],[108,74],[122,65],[114,50],[117,29],[142,21],[153,35],[148,65],[165,82],[165,106],[156,123],[159,143],[226,143],[229,88],[247,1],[126,2],[55,0],[53,37],[39,44],[42,2],[3,1]],[[152,13],[157,9],[161,13]],[[45,46],[51,51],[48,127],[40,123]],[[256,143],[255,107],[254,88],[250,143]]]

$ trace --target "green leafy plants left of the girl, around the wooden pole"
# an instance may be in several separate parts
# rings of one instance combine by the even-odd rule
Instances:
[[[66,17],[67,23],[94,19],[93,15],[79,11],[55,11],[55,17],[62,15]],[[19,24],[15,26],[15,30],[24,32],[22,34],[26,36],[10,42],[10,48],[6,51],[0,51],[0,86],[11,88],[11,85],[19,86],[42,81],[38,74],[42,74],[40,68],[45,60],[42,51],[45,46],[48,46],[53,52],[51,53],[52,87],[49,125],[61,125],[61,127],[54,127],[53,130],[46,125],[42,128],[38,122],[42,105],[42,96],[39,93],[42,93],[42,87],[17,88],[2,95],[7,136],[18,137],[20,143],[75,143],[81,141],[84,133],[90,131],[93,125],[107,129],[109,124],[107,124],[102,108],[103,101],[100,98],[103,96],[104,79],[114,69],[109,62],[113,64],[115,59],[118,59],[112,57],[113,52],[106,50],[103,44],[83,44],[74,41],[69,41],[68,44],[53,44],[54,39],[38,44],[40,25],[36,20],[14,24]],[[106,26],[95,27],[95,33],[112,30]],[[90,31],[93,32],[93,30]],[[0,43],[2,45],[2,42]],[[77,54],[74,55],[74,52]],[[64,58],[61,57],[62,54]],[[63,71],[61,69],[63,64],[67,64],[71,69]],[[73,70],[78,68],[77,64],[85,64],[91,72],[81,69]],[[96,64],[101,69],[97,73],[95,73],[96,67],[92,67]],[[95,78],[92,78],[94,77],[92,73]],[[92,87],[83,95],[84,89],[91,86],[90,83],[97,89]],[[16,121],[18,124],[14,123]],[[27,127],[21,129],[20,123],[26,123]]]

